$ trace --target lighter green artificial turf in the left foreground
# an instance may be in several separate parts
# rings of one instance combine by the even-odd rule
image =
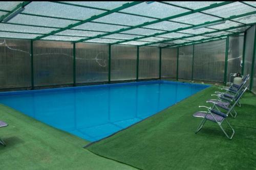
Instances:
[[[89,143],[69,133],[0,105],[0,119],[9,124],[0,128],[0,169],[135,169],[102,158],[82,147]]]

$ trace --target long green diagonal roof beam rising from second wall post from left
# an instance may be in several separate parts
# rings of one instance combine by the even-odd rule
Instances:
[[[197,10],[184,12],[184,13],[181,13],[181,14],[177,14],[177,15],[165,17],[165,18],[158,19],[158,20],[151,21],[151,22],[145,22],[145,23],[142,23],[142,24],[140,24],[140,25],[133,26],[133,27],[131,27],[131,28],[120,29],[120,30],[117,30],[117,31],[114,31],[114,32],[111,32],[111,33],[102,34],[102,35],[94,36],[94,37],[91,37],[91,38],[80,39],[80,40],[75,41],[75,42],[87,41],[87,40],[94,39],[94,38],[100,38],[100,37],[104,37],[104,36],[107,36],[107,35],[112,35],[112,34],[120,33],[120,32],[123,32],[123,31],[128,31],[128,30],[132,30],[132,29],[135,29],[135,28],[140,28],[140,27],[152,25],[152,24],[154,24],[154,23],[158,23],[158,22],[162,22],[162,21],[169,20],[169,19],[174,19],[174,18],[178,18],[178,17],[181,17],[181,16],[193,14],[193,13],[196,13],[196,12],[201,12],[201,11],[204,11],[204,10],[208,10],[208,9],[220,7],[220,6],[223,6],[223,5],[230,4],[230,3],[233,3],[233,2],[222,2],[222,3],[219,3],[219,4],[217,4],[217,3],[216,3],[216,4],[212,4],[212,5],[210,5],[210,6],[207,6],[207,7],[204,7],[204,8],[200,8],[200,9],[197,9]],[[131,40],[131,41],[132,41],[132,40]]]

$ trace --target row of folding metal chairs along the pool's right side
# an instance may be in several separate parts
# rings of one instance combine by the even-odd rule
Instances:
[[[217,99],[211,99],[206,101],[206,103],[211,103],[211,107],[206,106],[199,106],[200,108],[206,108],[207,111],[198,111],[193,114],[194,117],[201,117],[203,118],[201,123],[199,124],[196,134],[202,129],[205,122],[209,120],[210,122],[217,123],[217,125],[221,128],[228,139],[232,139],[234,135],[234,129],[230,125],[227,120],[227,117],[231,115],[233,118],[237,116],[236,110],[234,107],[238,105],[241,107],[239,100],[242,98],[243,94],[247,90],[248,86],[247,83],[250,79],[249,75],[246,75],[243,78],[241,85],[227,83],[228,86],[222,87],[221,89],[224,92],[216,91],[215,94],[211,94],[211,96],[217,96]],[[222,124],[226,122],[228,127],[231,129],[231,134],[228,134]]]

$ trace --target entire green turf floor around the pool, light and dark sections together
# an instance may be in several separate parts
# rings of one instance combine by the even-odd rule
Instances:
[[[9,124],[0,128],[7,143],[0,145],[0,169],[256,169],[254,94],[246,93],[237,118],[229,118],[232,140],[212,123],[195,135],[200,119],[191,115],[216,90],[207,88],[88,150],[82,148],[88,141],[0,105],[0,119]]]

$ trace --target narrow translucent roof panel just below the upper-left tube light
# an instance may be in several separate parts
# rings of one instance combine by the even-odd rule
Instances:
[[[67,27],[77,21],[19,14],[8,22],[46,27]]]

